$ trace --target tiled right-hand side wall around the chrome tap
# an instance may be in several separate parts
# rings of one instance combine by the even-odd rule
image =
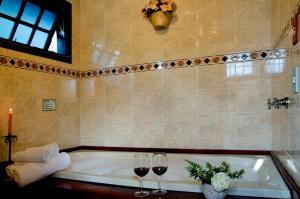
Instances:
[[[292,16],[297,0],[273,0],[272,1],[272,37],[275,39],[283,31]],[[278,43],[278,47],[288,48],[290,56],[277,63],[284,72],[272,76],[272,95],[274,97],[291,97],[296,104],[289,109],[273,110],[273,149],[277,152],[281,161],[286,165],[294,179],[300,185],[300,94],[292,91],[293,67],[300,66],[300,54],[298,43],[292,45],[292,32],[288,28],[286,37]]]

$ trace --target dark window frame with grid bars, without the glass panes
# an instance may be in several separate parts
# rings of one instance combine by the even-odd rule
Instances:
[[[39,16],[38,16],[35,24],[30,24],[25,21],[21,21],[21,16],[23,14],[23,11],[24,11],[24,8],[25,8],[25,5],[27,2],[33,3],[33,4],[41,7],[41,11],[39,13]],[[0,0],[0,3],[1,3],[1,0]],[[56,14],[56,19],[50,30],[46,30],[44,28],[38,27],[39,21],[42,18],[44,10],[49,10],[50,12],[53,12]],[[14,22],[14,26],[11,31],[9,39],[0,38],[0,47],[4,47],[4,48],[11,49],[11,50],[16,50],[16,51],[32,54],[32,55],[37,55],[37,56],[41,56],[41,57],[46,57],[46,58],[50,58],[50,59],[54,59],[54,60],[58,60],[58,61],[62,61],[62,62],[72,63],[72,5],[71,5],[71,3],[69,3],[65,0],[51,0],[51,1],[49,1],[49,0],[23,0],[17,17],[15,17],[15,18],[10,17],[10,16],[7,16],[2,13],[0,13],[0,17]],[[58,25],[59,25],[58,21],[60,21],[60,20],[64,20],[64,24],[66,25],[65,30],[64,30],[64,32],[66,34],[66,40],[65,40],[66,53],[65,53],[65,55],[48,51],[48,48],[51,44],[52,37],[53,37],[56,29],[58,28]],[[31,35],[29,37],[28,44],[14,42],[12,40],[19,24],[26,25],[33,29],[31,32]],[[49,36],[46,40],[44,49],[33,47],[33,46],[29,45],[37,30],[49,34]]]

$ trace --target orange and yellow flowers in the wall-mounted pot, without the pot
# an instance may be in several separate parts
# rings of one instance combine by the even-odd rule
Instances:
[[[152,13],[157,11],[172,13],[175,9],[176,5],[173,0],[150,0],[150,2],[145,5],[142,12],[146,17],[149,17]]]

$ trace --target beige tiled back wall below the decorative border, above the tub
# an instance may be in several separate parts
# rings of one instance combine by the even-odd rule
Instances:
[[[263,60],[82,79],[81,144],[271,149],[268,65]],[[230,67],[235,72],[228,73]]]

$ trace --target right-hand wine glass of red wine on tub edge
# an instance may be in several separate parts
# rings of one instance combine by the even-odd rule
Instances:
[[[156,152],[152,156],[152,171],[158,175],[158,189],[152,193],[155,195],[164,195],[166,190],[161,189],[160,176],[166,173],[168,169],[168,157],[164,152]]]

